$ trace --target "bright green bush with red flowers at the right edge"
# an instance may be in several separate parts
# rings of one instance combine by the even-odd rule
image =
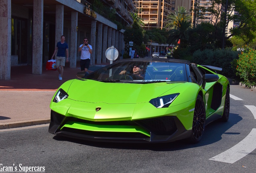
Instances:
[[[256,85],[256,51],[245,47],[236,62],[236,74],[247,87]]]

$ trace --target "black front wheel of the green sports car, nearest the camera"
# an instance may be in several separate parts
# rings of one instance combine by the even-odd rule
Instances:
[[[190,142],[198,143],[204,134],[205,129],[205,107],[202,96],[198,95],[196,98],[196,105],[194,110],[194,117],[192,123],[192,132],[190,136]]]

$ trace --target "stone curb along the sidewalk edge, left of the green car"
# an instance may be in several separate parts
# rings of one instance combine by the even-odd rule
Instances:
[[[17,127],[26,127],[32,125],[41,125],[50,123],[50,119],[37,119],[32,121],[14,121],[9,124],[0,124],[0,129],[11,129]]]

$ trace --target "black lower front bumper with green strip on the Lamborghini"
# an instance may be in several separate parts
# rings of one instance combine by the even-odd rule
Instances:
[[[190,136],[173,116],[136,121],[87,121],[51,111],[49,132],[72,138],[104,142],[164,143]]]

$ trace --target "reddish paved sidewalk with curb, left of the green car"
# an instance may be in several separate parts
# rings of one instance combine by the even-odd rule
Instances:
[[[90,72],[107,64],[90,66]],[[58,71],[45,70],[32,74],[32,65],[12,66],[11,80],[0,80],[0,129],[50,123],[50,102],[60,85],[77,78],[80,64],[69,68],[66,63],[63,80],[58,80]]]

